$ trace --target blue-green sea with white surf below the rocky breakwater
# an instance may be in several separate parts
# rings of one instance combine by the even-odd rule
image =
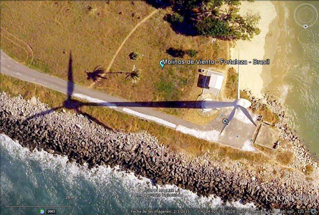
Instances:
[[[199,197],[196,194],[167,185],[183,197],[136,197],[145,194],[145,189],[160,188],[146,178],[137,178],[133,173],[125,173],[118,168],[101,166],[89,170],[67,162],[67,157],[54,156],[46,151],[23,148],[8,136],[0,134],[1,153],[1,211],[6,214],[40,214],[40,208],[5,207],[68,205],[65,196],[74,196],[70,207],[57,208],[58,214],[130,214],[130,210],[170,207],[170,208],[252,208],[240,202],[225,203],[217,197]],[[45,207],[42,207],[44,209]]]

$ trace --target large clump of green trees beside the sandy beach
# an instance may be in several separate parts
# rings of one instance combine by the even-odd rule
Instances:
[[[257,27],[260,16],[251,13],[241,16],[240,0],[171,0],[171,3],[173,10],[184,17],[183,24],[195,27],[192,30],[198,35],[250,40],[260,33]]]

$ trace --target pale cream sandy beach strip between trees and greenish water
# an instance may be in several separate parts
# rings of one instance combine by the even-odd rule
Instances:
[[[240,13],[246,14],[247,12],[259,13],[261,19],[258,27],[261,29],[261,33],[256,35],[251,41],[237,41],[235,46],[230,49],[231,59],[238,58],[238,50],[240,51],[240,59],[247,61],[252,61],[252,59],[264,59],[265,49],[269,47],[265,44],[266,37],[276,36],[268,34],[271,23],[277,16],[275,6],[271,1],[255,1],[253,3],[242,2]],[[266,58],[269,58],[269,56]],[[264,65],[264,67],[269,67],[270,71],[271,65]],[[255,96],[260,97],[263,88],[263,79],[261,77],[262,71],[262,65],[242,65],[240,67],[240,88],[248,88]]]

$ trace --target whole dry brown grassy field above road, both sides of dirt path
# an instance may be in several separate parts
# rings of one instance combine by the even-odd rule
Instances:
[[[74,81],[90,86],[93,81],[87,80],[85,72],[98,65],[107,69],[127,35],[154,10],[144,1],[2,1],[1,49],[33,69],[63,79],[72,52]],[[173,58],[169,48],[194,49],[196,58],[226,58],[227,42],[212,44],[206,37],[176,34],[163,19],[169,12],[159,9],[143,22],[119,50],[106,79],[93,88],[132,101],[196,100],[201,67],[165,65],[161,70],[159,61]],[[139,55],[137,60],[129,57],[133,51]],[[133,65],[141,70],[137,83],[113,73],[130,72]],[[160,111],[199,123],[206,120],[196,110]]]

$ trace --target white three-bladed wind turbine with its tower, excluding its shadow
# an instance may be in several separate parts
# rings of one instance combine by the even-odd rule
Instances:
[[[239,59],[239,53],[238,53]],[[250,107],[251,102],[247,99],[240,97],[240,89],[239,89],[239,65],[238,65],[238,86],[237,86],[237,99],[234,102],[217,102],[217,101],[203,101],[202,108],[204,109],[212,109],[212,108],[221,108],[221,107],[234,107],[232,112],[230,113],[229,117],[227,118],[228,123],[233,119],[236,110],[240,109],[244,112],[247,118],[257,127],[256,123],[254,122],[253,118],[250,116],[249,112],[246,108]],[[223,128],[220,131],[220,134],[223,132],[227,124],[224,124]]]

